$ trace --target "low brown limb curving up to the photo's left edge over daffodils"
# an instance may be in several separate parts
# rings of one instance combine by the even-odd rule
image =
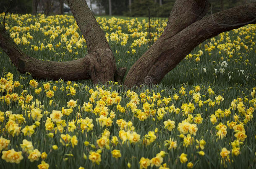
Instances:
[[[29,72],[35,78],[55,80],[60,78],[63,80],[90,78],[89,72],[86,71],[88,70],[86,65],[90,54],[84,58],[68,62],[40,61],[26,55],[10,38],[2,24],[0,24],[0,46],[19,72]]]

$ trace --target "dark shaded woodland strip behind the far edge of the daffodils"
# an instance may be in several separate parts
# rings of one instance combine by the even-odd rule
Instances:
[[[95,15],[124,15],[168,17],[175,0],[86,0]],[[212,13],[256,0],[209,0]],[[0,13],[5,12],[10,0],[1,0]],[[37,4],[37,7],[35,6]],[[34,6],[34,8],[33,8]],[[111,8],[110,8],[111,6]],[[55,15],[71,13],[65,0],[12,0],[10,13],[44,13]]]

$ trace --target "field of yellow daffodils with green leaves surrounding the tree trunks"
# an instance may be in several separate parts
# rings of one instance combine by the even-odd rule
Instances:
[[[128,69],[167,24],[152,21],[148,39],[146,18],[97,21],[117,66]],[[70,15],[9,14],[5,28],[31,57],[87,54]],[[33,79],[0,49],[0,168],[256,169],[255,30],[246,25],[206,40],[161,84],[130,89]]]

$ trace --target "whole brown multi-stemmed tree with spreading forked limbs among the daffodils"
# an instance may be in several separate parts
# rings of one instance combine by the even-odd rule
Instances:
[[[85,0],[67,0],[81,33],[86,39],[88,55],[66,61],[39,61],[27,56],[0,24],[0,46],[21,73],[35,78],[79,80],[95,83],[122,81],[126,68],[117,70],[114,55],[103,30]],[[207,0],[177,0],[162,35],[128,71],[124,84],[159,83],[188,53],[204,40],[227,30],[256,23],[256,3],[221,11],[204,17]],[[204,17],[204,18],[203,18]]]

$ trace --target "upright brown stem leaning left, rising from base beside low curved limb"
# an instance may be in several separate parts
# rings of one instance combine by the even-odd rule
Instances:
[[[117,68],[104,31],[85,0],[68,0],[68,5],[83,34],[90,55],[89,72],[93,83],[114,81]]]

